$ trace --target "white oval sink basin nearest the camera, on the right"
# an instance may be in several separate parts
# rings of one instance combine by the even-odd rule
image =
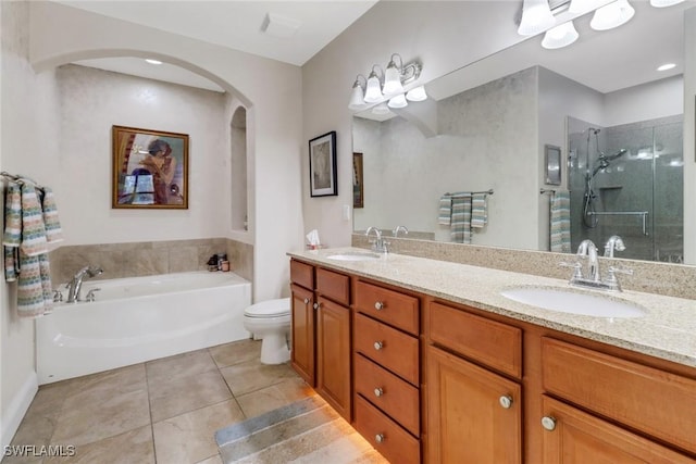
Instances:
[[[627,301],[561,288],[519,287],[504,290],[500,294],[545,310],[584,316],[642,317],[647,313],[644,308]]]

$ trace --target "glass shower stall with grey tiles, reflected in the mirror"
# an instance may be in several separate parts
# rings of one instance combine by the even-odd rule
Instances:
[[[682,122],[601,127],[568,117],[572,250],[584,239],[601,250],[619,236],[617,258],[683,261]]]

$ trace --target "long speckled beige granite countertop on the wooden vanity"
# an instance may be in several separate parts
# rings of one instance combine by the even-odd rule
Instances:
[[[568,280],[492,269],[467,264],[384,254],[369,261],[337,261],[332,254],[365,253],[360,248],[288,252],[322,267],[393,284],[421,293],[468,304],[490,313],[601,341],[696,367],[696,301],[625,290],[609,293],[570,287]],[[556,287],[630,302],[647,310],[642,317],[596,317],[544,310],[500,294],[520,286]]]

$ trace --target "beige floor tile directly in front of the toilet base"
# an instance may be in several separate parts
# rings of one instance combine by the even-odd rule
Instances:
[[[266,365],[259,361],[248,361],[223,367],[220,373],[225,377],[225,381],[235,397],[270,387],[287,378],[297,378],[297,374],[287,363]]]

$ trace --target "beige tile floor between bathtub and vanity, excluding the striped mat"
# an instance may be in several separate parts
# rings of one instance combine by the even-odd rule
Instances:
[[[220,464],[216,430],[313,394],[289,364],[243,340],[39,388],[12,444],[72,444],[14,463]]]

